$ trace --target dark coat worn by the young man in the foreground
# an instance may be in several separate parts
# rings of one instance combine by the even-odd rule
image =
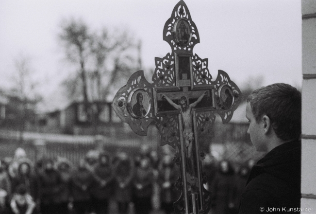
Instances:
[[[260,207],[280,208],[278,214],[284,212],[283,207],[299,208],[300,164],[300,141],[283,143],[268,152],[251,170],[239,214],[261,214]]]

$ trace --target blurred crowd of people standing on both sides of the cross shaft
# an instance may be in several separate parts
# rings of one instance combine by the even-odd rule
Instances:
[[[228,161],[214,160],[203,161],[211,212],[233,213],[249,166],[235,174]],[[34,163],[18,148],[12,160],[0,163],[0,214],[107,214],[111,201],[119,214],[171,214],[181,194],[174,187],[179,176],[172,155],[159,157],[146,146],[133,157],[123,151],[88,153],[78,166],[65,158]]]

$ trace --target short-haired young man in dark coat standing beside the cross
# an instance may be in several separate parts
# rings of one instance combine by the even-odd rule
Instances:
[[[300,208],[301,94],[277,83],[254,90],[247,99],[248,133],[266,156],[253,166],[239,214],[297,213]]]

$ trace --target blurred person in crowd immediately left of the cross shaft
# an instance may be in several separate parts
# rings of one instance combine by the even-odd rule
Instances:
[[[166,214],[174,212],[173,203],[180,196],[179,191],[174,186],[179,176],[179,168],[175,167],[172,156],[164,156],[159,164],[158,184],[160,187],[161,209]]]

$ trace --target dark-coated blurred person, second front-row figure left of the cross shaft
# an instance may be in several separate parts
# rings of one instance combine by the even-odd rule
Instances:
[[[136,167],[133,179],[133,202],[136,214],[149,214],[153,188],[153,172],[150,159],[144,157]]]

